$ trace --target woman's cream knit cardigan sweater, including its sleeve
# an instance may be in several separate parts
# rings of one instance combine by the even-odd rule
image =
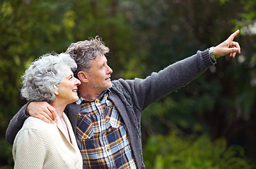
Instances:
[[[55,125],[33,117],[25,120],[13,143],[14,168],[82,168],[76,137],[64,113],[63,120],[71,143],[64,135],[59,116]]]

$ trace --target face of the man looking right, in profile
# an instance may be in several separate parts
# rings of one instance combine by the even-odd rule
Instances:
[[[107,65],[107,58],[104,55],[97,56],[88,70],[88,82],[96,92],[103,92],[112,86],[110,76],[112,69]]]

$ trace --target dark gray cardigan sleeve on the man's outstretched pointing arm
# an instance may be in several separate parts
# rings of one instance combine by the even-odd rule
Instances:
[[[145,79],[136,78],[121,83],[127,86],[136,108],[143,111],[158,99],[184,87],[214,64],[216,62],[211,61],[209,50],[206,49],[197,51],[197,54],[173,63],[158,73],[151,73]]]

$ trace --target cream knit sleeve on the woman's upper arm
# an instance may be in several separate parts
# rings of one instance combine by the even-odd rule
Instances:
[[[13,142],[14,168],[42,168],[45,161],[45,142],[37,130],[18,132]]]

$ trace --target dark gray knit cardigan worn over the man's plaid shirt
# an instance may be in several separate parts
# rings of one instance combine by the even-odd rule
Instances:
[[[173,63],[158,73],[152,73],[145,79],[112,81],[108,99],[115,104],[124,120],[137,168],[145,168],[141,145],[141,111],[170,92],[185,86],[214,64],[216,62],[211,60],[209,50],[206,49],[197,51],[197,54]],[[13,143],[18,130],[28,118],[28,115],[25,115],[27,106],[28,104],[25,104],[11,119],[6,130],[6,140],[10,143]],[[74,133],[79,111],[80,105],[76,103],[69,104],[64,111],[69,117]]]

